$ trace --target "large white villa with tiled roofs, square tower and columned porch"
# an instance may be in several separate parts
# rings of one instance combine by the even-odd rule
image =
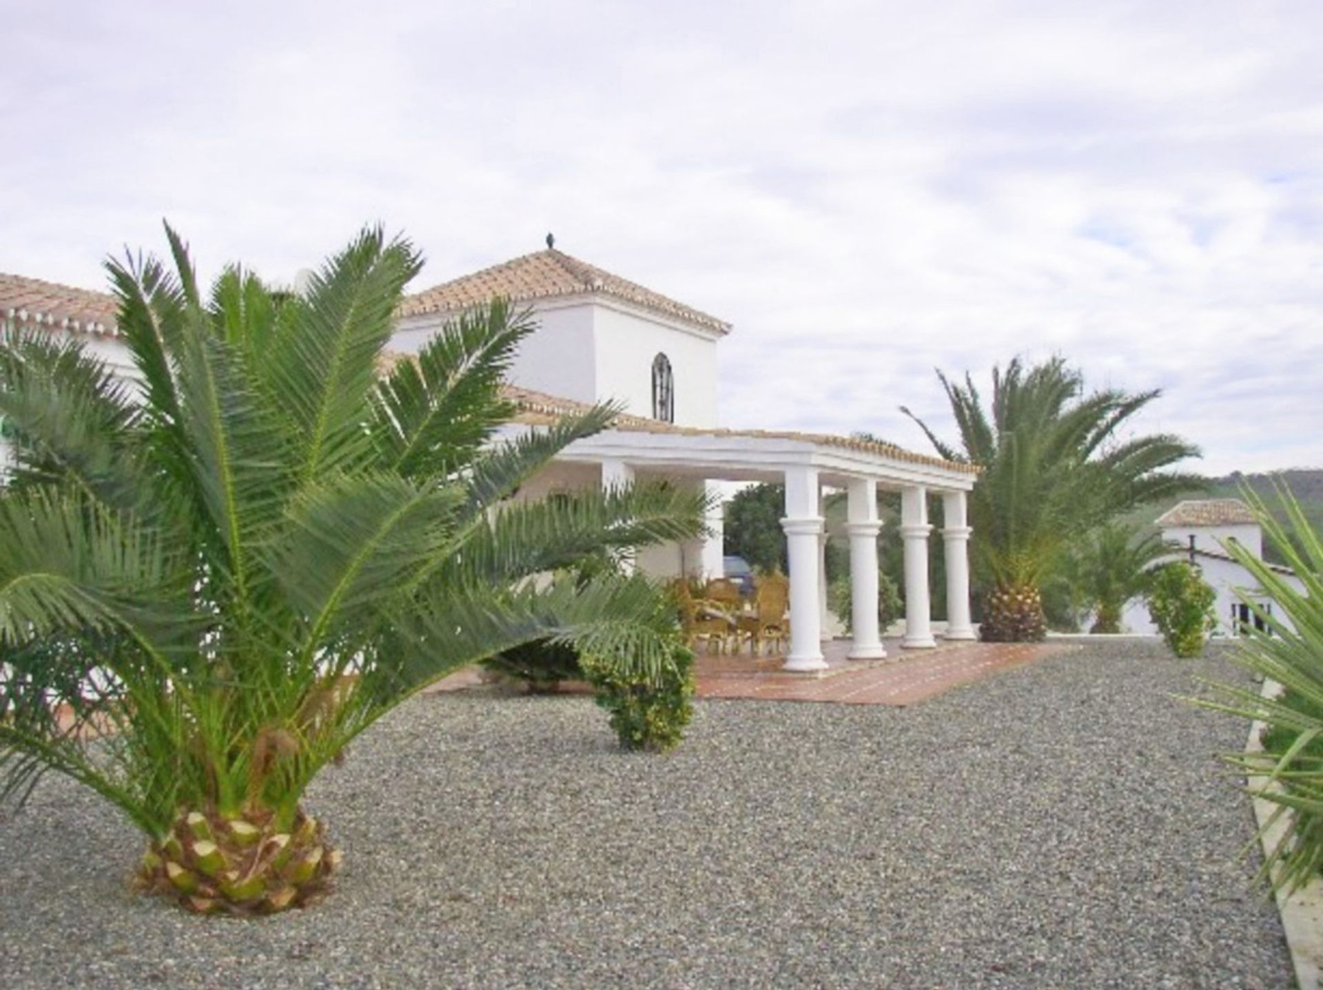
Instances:
[[[848,493],[852,642],[849,657],[885,657],[877,623],[877,492],[901,492],[906,623],[904,645],[935,645],[930,623],[929,496],[942,498],[946,560],[945,636],[974,638],[970,623],[970,527],[966,492],[975,471],[897,447],[843,436],[721,428],[717,415],[717,346],[730,325],[617,275],[548,247],[407,296],[392,346],[417,353],[455,313],[493,296],[533,311],[538,329],[511,374],[519,407],[512,428],[537,428],[585,403],[623,404],[611,430],[581,440],[545,471],[528,493],[634,478],[669,478],[713,486],[722,481],[774,481],[786,488],[790,558],[790,670],[826,666],[827,613],[823,492]],[[116,340],[108,295],[0,275],[0,319],[77,333],[112,367],[130,370]],[[3,447],[0,447],[3,457]],[[0,461],[3,464],[3,461]],[[647,547],[635,564],[658,576],[720,576],[720,517],[705,542]]]

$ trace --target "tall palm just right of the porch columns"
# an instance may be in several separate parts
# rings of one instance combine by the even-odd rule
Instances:
[[[1040,587],[1078,534],[1119,513],[1197,488],[1193,475],[1168,471],[1199,449],[1166,434],[1118,439],[1159,391],[1105,389],[1084,394],[1081,374],[1060,357],[1005,371],[992,369],[984,410],[974,379],[938,371],[959,428],[959,445],[941,440],[902,407],[947,460],[974,463],[970,517],[975,575],[983,592],[982,636],[988,641],[1045,634]]]

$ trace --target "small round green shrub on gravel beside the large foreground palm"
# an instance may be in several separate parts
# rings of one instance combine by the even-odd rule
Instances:
[[[623,748],[664,752],[679,745],[693,718],[693,653],[687,646],[676,641],[660,677],[648,682],[597,658],[585,660],[583,669]]]

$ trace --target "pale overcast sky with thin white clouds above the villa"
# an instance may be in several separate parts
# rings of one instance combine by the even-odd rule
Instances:
[[[950,431],[933,373],[1160,387],[1323,465],[1323,3],[0,0],[0,271],[163,247],[415,288],[557,246],[734,324],[726,426]]]

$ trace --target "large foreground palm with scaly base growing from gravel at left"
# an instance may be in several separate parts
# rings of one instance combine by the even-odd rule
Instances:
[[[365,230],[300,295],[230,267],[204,297],[167,234],[175,275],[107,263],[135,382],[77,344],[0,346],[0,797],[65,773],[147,834],[143,884],[273,912],[339,862],[308,782],[438,677],[550,638],[662,678],[673,619],[644,579],[529,578],[696,535],[704,504],[512,500],[614,410],[501,432],[532,330],[503,301],[382,373],[407,242]]]

